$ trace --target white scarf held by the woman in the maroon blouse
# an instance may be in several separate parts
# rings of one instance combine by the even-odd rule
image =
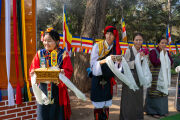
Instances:
[[[168,87],[171,85],[171,61],[168,53],[160,52],[161,68],[158,75],[157,90],[168,95]]]

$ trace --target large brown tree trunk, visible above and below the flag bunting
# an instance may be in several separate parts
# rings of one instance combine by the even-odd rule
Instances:
[[[87,0],[86,11],[81,30],[82,37],[102,38],[105,27],[107,0]],[[83,92],[91,87],[91,79],[88,78],[86,69],[90,67],[90,55],[76,53],[74,56],[73,83]]]

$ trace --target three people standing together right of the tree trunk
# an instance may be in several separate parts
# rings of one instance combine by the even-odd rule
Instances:
[[[108,26],[104,30],[105,40],[96,43],[91,53],[92,69],[92,87],[91,100],[94,105],[95,120],[108,120],[109,106],[112,105],[112,86],[116,84],[115,75],[106,64],[106,58],[120,54],[119,38],[117,29]],[[118,42],[117,42],[118,41]],[[140,54],[141,62],[145,55],[142,48],[144,41],[141,33],[136,33],[133,38],[134,45],[126,50],[124,55],[129,68],[134,77],[138,90],[133,91],[125,83],[122,83],[122,95],[120,105],[120,120],[143,120],[144,112],[155,118],[166,116],[168,114],[168,86],[171,81],[171,65],[173,64],[169,52],[166,50],[167,40],[161,38],[158,40],[158,47],[151,50],[148,54],[150,70],[152,73],[151,85],[147,88],[147,94],[144,104],[143,85],[136,68],[135,59]],[[116,67],[123,73],[121,62],[114,61]],[[144,71],[143,71],[144,72]],[[121,79],[121,78],[120,78]],[[145,79],[145,78],[144,78]],[[102,84],[104,83],[104,84]]]

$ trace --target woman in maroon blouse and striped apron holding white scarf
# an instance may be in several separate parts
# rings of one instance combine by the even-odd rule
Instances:
[[[161,38],[158,47],[151,50],[152,85],[147,89],[145,112],[155,118],[168,114],[168,87],[171,83],[171,65],[169,52],[166,50],[167,40]]]

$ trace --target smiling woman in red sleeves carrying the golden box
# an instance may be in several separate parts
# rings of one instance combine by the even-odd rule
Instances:
[[[51,29],[46,31],[43,45],[45,49],[39,50],[30,66],[30,77],[34,74],[36,68],[51,67],[51,52],[57,52],[57,66],[61,73],[65,74],[67,78],[71,78],[73,67],[70,57],[67,52],[59,48],[59,34]],[[68,96],[67,87],[64,83],[59,81],[59,84],[40,83],[39,88],[48,97],[50,103],[37,105],[37,119],[38,120],[70,120],[71,108]]]

